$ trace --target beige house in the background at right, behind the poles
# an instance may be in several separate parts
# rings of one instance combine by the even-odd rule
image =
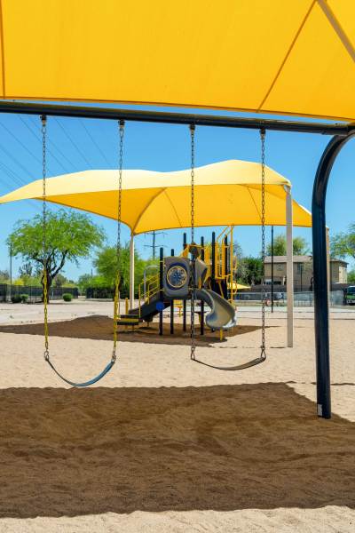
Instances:
[[[286,285],[286,256],[273,258],[273,282],[275,285]],[[346,283],[348,264],[342,259],[330,259],[331,282]],[[272,258],[265,258],[265,282],[272,282]],[[294,256],[294,287],[296,290],[312,290],[313,262],[312,256]]]

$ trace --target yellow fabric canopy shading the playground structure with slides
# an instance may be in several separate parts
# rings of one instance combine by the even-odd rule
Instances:
[[[122,172],[122,222],[134,235],[189,227],[190,170]],[[265,223],[286,224],[284,178],[265,167]],[[47,179],[47,200],[117,218],[118,171],[83,171]],[[42,199],[42,179],[4,195],[0,203]],[[195,226],[261,224],[261,165],[224,161],[195,170]],[[294,225],[312,226],[311,213],[294,201]]]

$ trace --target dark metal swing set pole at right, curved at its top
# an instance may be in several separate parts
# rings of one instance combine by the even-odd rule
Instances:
[[[343,138],[335,135],[320,158],[312,195],[312,241],[314,278],[314,327],[316,340],[317,412],[331,417],[329,370],[329,311],[327,287],[327,183],[336,155],[354,132]]]

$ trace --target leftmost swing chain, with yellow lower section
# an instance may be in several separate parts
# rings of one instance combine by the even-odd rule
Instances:
[[[46,204],[46,175],[47,175],[47,117],[41,116],[42,122],[42,227],[43,227],[43,314],[44,314],[44,359],[49,361],[48,339],[48,279],[47,279],[47,204]]]

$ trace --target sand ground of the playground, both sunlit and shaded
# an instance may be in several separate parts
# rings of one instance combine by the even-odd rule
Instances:
[[[89,378],[112,351],[111,306],[51,306],[52,361]],[[0,305],[0,531],[355,530],[355,314],[332,314],[334,416],[315,416],[312,313],[267,315],[267,361],[242,372],[190,361],[189,338],[122,332],[98,386],[73,389],[43,361],[40,306]],[[257,311],[207,362],[257,354]]]

